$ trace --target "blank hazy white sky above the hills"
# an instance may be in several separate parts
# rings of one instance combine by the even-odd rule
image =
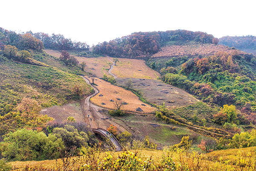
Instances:
[[[97,44],[175,29],[256,36],[255,0],[3,0],[0,27]]]

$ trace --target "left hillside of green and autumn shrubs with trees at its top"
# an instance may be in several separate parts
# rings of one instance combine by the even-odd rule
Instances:
[[[42,129],[52,118],[40,115],[41,108],[62,105],[92,91],[73,74],[84,73],[79,67],[42,52],[43,43],[37,38],[4,29],[0,35],[1,136],[20,128]]]

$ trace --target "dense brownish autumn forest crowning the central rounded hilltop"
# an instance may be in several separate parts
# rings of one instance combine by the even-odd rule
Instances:
[[[159,52],[169,41],[195,41],[198,43],[215,43],[218,39],[205,32],[173,30],[166,32],[136,32],[122,38],[96,45],[95,53],[113,57],[149,57]]]

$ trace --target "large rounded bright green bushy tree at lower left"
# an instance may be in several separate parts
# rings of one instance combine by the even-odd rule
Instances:
[[[8,133],[0,143],[3,157],[13,161],[53,159],[59,155],[58,148],[64,148],[61,139],[27,129]]]

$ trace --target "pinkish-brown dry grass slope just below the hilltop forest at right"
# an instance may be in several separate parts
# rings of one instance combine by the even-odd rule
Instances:
[[[157,57],[171,57],[171,56],[197,56],[197,55],[214,55],[218,51],[232,52],[233,49],[223,46],[223,45],[214,45],[214,44],[185,44],[185,45],[172,45],[165,46],[161,48],[160,52],[152,55],[151,58]],[[239,53],[243,53],[239,51]]]

